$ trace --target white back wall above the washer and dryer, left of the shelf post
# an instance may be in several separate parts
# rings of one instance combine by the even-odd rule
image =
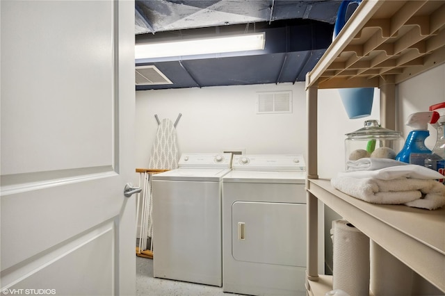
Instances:
[[[257,92],[291,90],[293,112],[256,114]],[[183,152],[245,149],[246,154],[306,154],[305,83],[240,85],[136,92],[136,160],[147,167],[158,124],[177,124]]]

